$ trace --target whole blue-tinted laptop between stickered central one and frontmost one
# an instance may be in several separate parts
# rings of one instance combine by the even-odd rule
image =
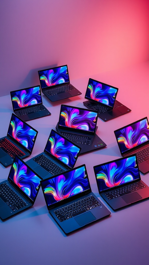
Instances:
[[[45,179],[73,168],[80,150],[79,146],[51,130],[44,152],[26,163]]]

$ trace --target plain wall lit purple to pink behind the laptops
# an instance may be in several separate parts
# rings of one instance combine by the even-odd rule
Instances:
[[[149,58],[148,0],[5,0],[1,91],[39,84],[38,70],[68,64],[70,80]]]

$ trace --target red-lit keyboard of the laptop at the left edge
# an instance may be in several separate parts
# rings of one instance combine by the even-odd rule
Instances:
[[[0,148],[13,158],[15,157],[15,154],[17,154],[19,157],[25,155],[25,153],[12,144],[7,138],[0,140]]]

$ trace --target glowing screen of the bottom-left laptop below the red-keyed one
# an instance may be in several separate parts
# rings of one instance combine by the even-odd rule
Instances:
[[[11,179],[34,202],[41,179],[17,156],[14,158],[8,179]]]

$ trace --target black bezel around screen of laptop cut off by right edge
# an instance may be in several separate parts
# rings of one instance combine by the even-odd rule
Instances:
[[[132,123],[130,123],[130,124],[128,124],[128,125],[126,125],[126,126],[120,128],[120,129],[117,129],[117,130],[114,131],[114,134],[115,134],[117,131],[123,130],[123,129],[125,129],[125,128],[129,127],[129,126],[132,126],[133,124],[135,124],[135,123],[137,123],[137,122],[140,122],[140,121],[143,121],[143,120],[145,120],[145,119],[147,119],[147,117],[144,117],[144,118],[142,118],[142,119],[140,119],[140,120],[138,120],[138,121],[132,122]],[[147,119],[147,122],[148,122],[148,119]],[[148,123],[148,126],[149,126],[149,123]],[[116,134],[115,134],[115,138],[116,138],[116,141],[117,141],[118,147],[119,147],[119,149],[120,149],[120,145],[119,145],[119,142],[118,142],[118,139],[117,139]],[[126,155],[126,154],[129,154],[130,152],[133,152],[133,151],[137,150],[138,148],[141,148],[142,146],[147,145],[147,144],[149,144],[149,140],[148,140],[147,142],[144,142],[144,143],[142,143],[142,144],[139,144],[139,145],[137,145],[137,146],[135,146],[135,147],[133,147],[133,148],[131,148],[131,149],[128,149],[128,150],[126,150],[126,151],[124,151],[124,152],[122,152],[121,149],[120,149],[121,156],[124,156],[124,155]]]

